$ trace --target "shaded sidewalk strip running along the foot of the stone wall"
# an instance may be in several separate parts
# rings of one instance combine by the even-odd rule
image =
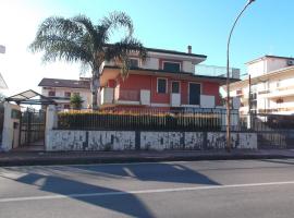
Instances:
[[[176,160],[294,158],[294,149],[260,150],[133,150],[133,152],[10,152],[0,153],[0,166],[84,165]]]

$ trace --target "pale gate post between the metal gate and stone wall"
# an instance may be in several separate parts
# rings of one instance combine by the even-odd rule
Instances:
[[[46,111],[46,126],[45,126],[45,149],[50,142],[50,132],[58,126],[58,113],[54,105],[49,105]]]

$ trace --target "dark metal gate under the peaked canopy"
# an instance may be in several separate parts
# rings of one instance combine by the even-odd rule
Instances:
[[[20,145],[44,146],[45,145],[46,111],[28,108],[22,112]]]

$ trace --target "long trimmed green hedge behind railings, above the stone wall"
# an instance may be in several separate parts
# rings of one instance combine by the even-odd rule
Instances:
[[[61,112],[58,128],[62,130],[220,130],[221,114],[132,114],[101,112]]]

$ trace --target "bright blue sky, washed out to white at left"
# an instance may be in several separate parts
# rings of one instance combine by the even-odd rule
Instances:
[[[0,0],[0,72],[10,96],[40,92],[42,77],[77,80],[78,64],[44,64],[28,51],[39,24],[49,16],[85,14],[94,23],[112,11],[127,13],[135,37],[145,47],[206,55],[204,64],[225,66],[230,28],[246,0]],[[294,1],[256,0],[241,17],[231,40],[231,65],[246,73],[245,62],[265,55],[294,56]],[[115,41],[120,34],[114,34]]]

